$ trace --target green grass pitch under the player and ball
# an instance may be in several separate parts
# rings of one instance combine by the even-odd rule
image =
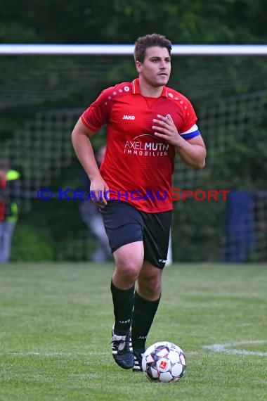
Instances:
[[[150,383],[113,362],[112,271],[0,265],[1,401],[267,400],[266,265],[165,269],[147,345],[171,340],[183,349],[177,383]]]

